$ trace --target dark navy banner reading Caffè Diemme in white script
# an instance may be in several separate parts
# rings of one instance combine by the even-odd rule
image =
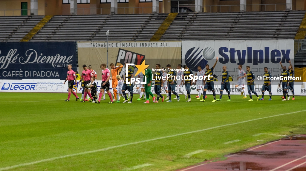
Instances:
[[[0,79],[61,79],[76,70],[76,42],[0,43]]]

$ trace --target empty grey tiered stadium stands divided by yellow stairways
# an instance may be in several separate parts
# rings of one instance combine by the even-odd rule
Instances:
[[[294,39],[305,11],[179,13],[160,40]],[[148,41],[168,14],[53,16],[29,41]],[[0,42],[19,42],[44,16],[1,16]]]

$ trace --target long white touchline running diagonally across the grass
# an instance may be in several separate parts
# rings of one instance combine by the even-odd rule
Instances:
[[[212,130],[212,129],[216,129],[216,128],[220,128],[220,127],[243,124],[243,123],[247,123],[247,122],[251,122],[251,121],[255,121],[255,120],[267,119],[267,118],[271,118],[271,117],[278,117],[278,116],[289,115],[289,114],[293,114],[293,113],[300,113],[300,112],[305,112],[305,111],[306,110],[300,110],[300,111],[297,111],[297,112],[283,113],[283,114],[278,114],[278,115],[273,115],[273,116],[268,116],[268,117],[261,117],[261,118],[257,118],[257,119],[245,120],[245,121],[236,122],[236,123],[233,123],[233,124],[225,124],[225,125],[220,125],[220,126],[216,126],[216,127],[210,127],[210,128],[206,128],[206,129],[185,132],[185,133],[181,133],[181,134],[174,134],[174,135],[169,135],[169,136],[165,136],[165,137],[148,139],[148,140],[144,140],[144,141],[136,141],[136,142],[131,142],[131,143],[127,143],[127,144],[121,144],[121,145],[116,145],[116,146],[112,146],[112,147],[102,148],[102,149],[98,149],[98,150],[92,150],[92,151],[87,151],[87,152],[80,152],[80,153],[75,153],[75,154],[52,157],[52,158],[49,158],[49,159],[37,160],[37,161],[34,161],[34,162],[28,162],[28,163],[22,163],[22,164],[18,164],[18,165],[14,165],[14,166],[2,167],[2,168],[0,168],[0,171],[14,169],[14,168],[21,167],[21,166],[29,166],[29,165],[33,165],[33,164],[37,164],[37,163],[41,163],[41,162],[49,162],[49,161],[53,161],[53,160],[57,160],[57,159],[63,159],[63,158],[67,158],[67,157],[73,157],[73,156],[77,156],[77,155],[84,155],[84,154],[102,152],[102,151],[107,151],[107,150],[110,150],[110,149],[124,147],[124,146],[128,146],[128,145],[135,145],[135,144],[139,144],[139,143],[156,141],[156,140],[161,140],[161,139],[165,139],[165,138],[172,138],[172,137],[177,137],[177,136],[186,135],[186,134],[193,134],[193,133],[203,132],[203,131]]]

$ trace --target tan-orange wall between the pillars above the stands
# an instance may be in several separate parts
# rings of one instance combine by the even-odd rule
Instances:
[[[28,15],[30,15],[31,0],[0,0],[0,16],[20,16],[21,2],[28,2]],[[282,11],[285,5],[260,5],[260,4],[285,4],[286,0],[247,0],[247,11]],[[210,5],[226,5],[214,6]],[[231,6],[229,6],[231,5]],[[237,12],[240,11],[240,0],[220,1],[203,0],[203,12]],[[100,0],[91,0],[90,4],[78,4],[78,15],[88,14],[110,14],[110,4],[100,4]],[[96,10],[90,10],[96,8]],[[103,8],[103,9],[99,9]],[[292,0],[293,10],[305,10],[306,0]],[[4,11],[5,10],[5,11]],[[139,0],[129,0],[129,3],[118,3],[118,14],[123,13],[151,13],[151,2],[139,2]],[[159,2],[159,12],[171,12],[171,0]],[[38,0],[38,15],[69,15],[70,4],[62,4],[62,0]]]

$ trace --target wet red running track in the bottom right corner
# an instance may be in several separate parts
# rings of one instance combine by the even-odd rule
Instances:
[[[306,171],[306,135],[258,145],[226,157],[224,161],[205,161],[178,171]]]

